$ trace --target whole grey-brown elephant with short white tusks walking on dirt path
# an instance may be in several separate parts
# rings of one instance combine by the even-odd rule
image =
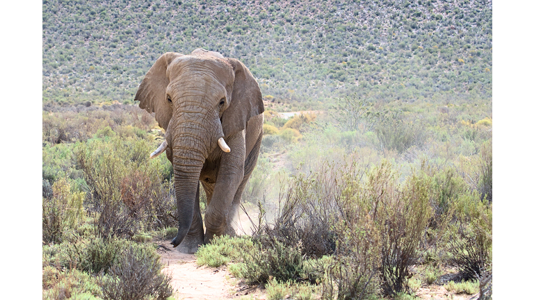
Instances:
[[[165,151],[172,163],[179,225],[172,246],[195,253],[216,235],[235,234],[231,222],[264,134],[264,102],[250,70],[214,51],[167,52],[150,67],[134,100],[165,129],[150,156]]]

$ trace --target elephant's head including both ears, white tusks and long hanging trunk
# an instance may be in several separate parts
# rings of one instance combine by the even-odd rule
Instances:
[[[249,69],[236,59],[197,49],[191,55],[168,52],[149,69],[137,91],[140,108],[155,113],[165,129],[166,151],[175,173],[179,232],[185,238],[193,219],[197,184],[210,153],[229,152],[225,138],[264,112],[261,91]]]

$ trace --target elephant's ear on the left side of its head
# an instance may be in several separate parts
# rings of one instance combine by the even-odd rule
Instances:
[[[167,130],[169,120],[172,117],[172,107],[167,101],[166,90],[169,85],[167,67],[172,60],[183,56],[180,53],[167,52],[160,56],[154,65],[148,70],[143,82],[139,85],[135,101],[140,101],[139,107],[149,113],[155,113],[159,126]]]

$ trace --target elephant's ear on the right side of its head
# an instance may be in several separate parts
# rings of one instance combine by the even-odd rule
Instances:
[[[248,67],[234,58],[228,58],[228,62],[234,69],[235,79],[230,105],[221,119],[225,136],[242,131],[251,117],[264,112],[261,90]]]

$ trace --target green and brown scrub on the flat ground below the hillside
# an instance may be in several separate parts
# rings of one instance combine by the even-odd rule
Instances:
[[[267,110],[243,194],[249,210],[259,206],[254,233],[202,247],[197,263],[227,264],[249,284],[298,299],[408,297],[446,274],[478,292],[492,266],[489,105],[350,96],[289,120]],[[42,117],[44,294],[116,299],[106,293],[130,281],[117,275],[120,258],[157,269],[150,241],[176,234],[172,167],[148,158],[163,133],[122,104]],[[170,295],[165,278],[144,272],[149,283],[133,290]]]

